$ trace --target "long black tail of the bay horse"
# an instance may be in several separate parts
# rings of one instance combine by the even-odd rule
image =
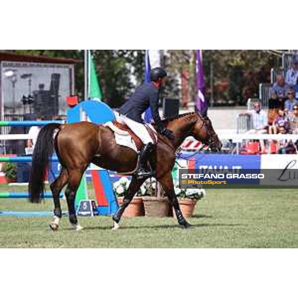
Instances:
[[[43,127],[35,144],[32,155],[32,167],[29,178],[29,201],[31,203],[40,203],[44,194],[44,178],[46,175],[49,158],[55,149],[54,131],[60,129],[61,124],[50,123]]]

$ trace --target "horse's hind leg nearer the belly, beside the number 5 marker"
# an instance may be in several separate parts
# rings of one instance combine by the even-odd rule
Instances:
[[[84,173],[83,170],[75,169],[69,171],[69,183],[67,186],[67,189],[65,191],[68,210],[69,210],[69,220],[72,226],[76,230],[81,230],[82,227],[78,224],[76,214],[75,214],[75,207],[74,207],[74,200],[76,191],[79,187],[80,180],[82,178],[82,175]]]

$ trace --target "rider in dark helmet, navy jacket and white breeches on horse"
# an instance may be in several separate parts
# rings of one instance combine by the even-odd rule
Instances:
[[[144,147],[140,153],[138,177],[150,176],[152,173],[146,169],[146,163],[153,150],[153,141],[144,125],[142,114],[150,107],[152,118],[156,124],[157,132],[173,140],[172,131],[164,128],[158,113],[159,92],[165,84],[167,73],[157,67],[150,71],[150,82],[139,86],[131,98],[118,110],[122,123],[125,123],[143,142]]]

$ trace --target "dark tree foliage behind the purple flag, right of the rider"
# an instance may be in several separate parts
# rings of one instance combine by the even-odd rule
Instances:
[[[196,96],[195,55],[194,50],[168,51],[172,72],[181,73],[182,69],[189,71],[192,99]],[[215,104],[245,104],[247,98],[258,96],[260,82],[270,82],[270,70],[279,64],[276,56],[263,50],[203,50],[206,96],[210,99],[213,89]]]

